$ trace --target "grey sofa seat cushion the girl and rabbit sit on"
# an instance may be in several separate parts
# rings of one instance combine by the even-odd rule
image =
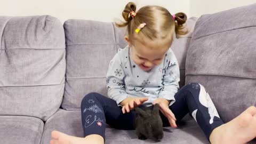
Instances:
[[[187,115],[184,121],[178,125],[178,129],[164,127],[164,138],[158,143],[209,143],[203,131],[195,120]],[[47,119],[41,144],[49,144],[51,132],[61,131],[76,137],[83,137],[83,127],[80,110],[60,109],[52,117]],[[181,136],[182,135],[182,136]],[[142,141],[137,138],[135,130],[125,131],[113,129],[107,125],[106,143],[152,143],[154,141]]]

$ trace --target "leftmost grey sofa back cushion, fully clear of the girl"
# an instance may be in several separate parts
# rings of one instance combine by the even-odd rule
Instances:
[[[0,17],[0,115],[44,121],[60,107],[65,86],[65,35],[49,15]]]

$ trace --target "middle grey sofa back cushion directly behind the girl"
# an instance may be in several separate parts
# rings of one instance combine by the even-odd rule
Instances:
[[[174,38],[173,49],[177,56],[181,82],[185,83],[185,57],[197,18],[188,19],[189,34]],[[118,49],[127,43],[125,29],[115,23],[89,20],[67,20],[64,23],[67,49],[67,73],[62,108],[79,110],[87,93],[98,92],[107,96],[106,74],[109,61]]]

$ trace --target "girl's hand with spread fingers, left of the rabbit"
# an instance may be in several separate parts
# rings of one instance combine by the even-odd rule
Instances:
[[[139,98],[139,97],[128,97],[124,99],[120,104],[123,106],[122,111],[125,114],[125,110],[129,113],[131,110],[135,109],[142,105],[143,102],[147,101],[148,98]]]

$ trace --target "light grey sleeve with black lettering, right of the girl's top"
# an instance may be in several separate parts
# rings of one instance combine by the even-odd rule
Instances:
[[[169,105],[171,106],[175,102],[174,95],[179,90],[180,71],[178,61],[174,53],[171,51],[168,54],[169,55],[167,55],[165,59],[166,66],[163,69],[163,88],[159,92],[158,97],[171,100]]]

